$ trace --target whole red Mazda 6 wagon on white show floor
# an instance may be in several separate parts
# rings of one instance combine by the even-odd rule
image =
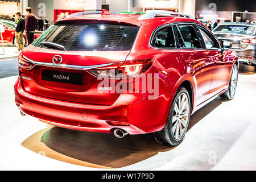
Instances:
[[[15,102],[51,125],[118,138],[152,133],[176,146],[196,110],[234,97],[231,47],[171,11],[73,14],[20,53]]]

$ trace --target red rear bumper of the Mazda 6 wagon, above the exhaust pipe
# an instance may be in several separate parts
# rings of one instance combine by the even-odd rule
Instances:
[[[86,105],[53,100],[27,93],[20,78],[15,83],[15,102],[19,109],[51,125],[73,130],[113,133],[116,128],[127,133],[144,134],[162,130],[168,112],[168,101],[159,96],[147,100],[145,94],[121,94],[111,106]],[[129,123],[130,126],[112,126],[107,121]]]

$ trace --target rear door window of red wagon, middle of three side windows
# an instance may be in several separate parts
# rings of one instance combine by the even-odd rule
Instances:
[[[178,26],[186,48],[202,48],[192,25]]]

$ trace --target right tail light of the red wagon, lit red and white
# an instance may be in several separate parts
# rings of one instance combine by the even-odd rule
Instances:
[[[89,72],[96,77],[136,77],[148,71],[152,64],[152,59],[131,60],[124,63],[114,63],[109,67],[97,68]]]

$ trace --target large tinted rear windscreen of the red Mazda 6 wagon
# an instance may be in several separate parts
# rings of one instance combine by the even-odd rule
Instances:
[[[53,25],[33,46],[51,48],[41,42],[64,46],[67,51],[129,51],[139,27],[112,24],[60,24]]]

